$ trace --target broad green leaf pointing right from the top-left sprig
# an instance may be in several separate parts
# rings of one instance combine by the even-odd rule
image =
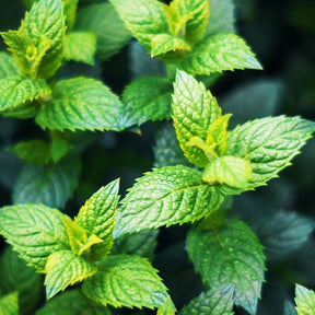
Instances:
[[[43,129],[120,130],[122,104],[102,82],[88,78],[57,82],[54,100],[36,116]]]

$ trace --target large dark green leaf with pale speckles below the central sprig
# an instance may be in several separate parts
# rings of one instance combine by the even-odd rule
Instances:
[[[259,240],[244,222],[228,219],[219,230],[191,229],[186,249],[209,287],[233,284],[235,304],[255,314],[265,257]]]

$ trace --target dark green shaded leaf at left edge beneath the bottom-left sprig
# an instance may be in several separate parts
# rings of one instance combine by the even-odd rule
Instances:
[[[42,279],[35,269],[8,246],[0,259],[0,291],[3,294],[19,292],[19,308],[31,313],[39,301]],[[1,310],[1,308],[0,308]]]

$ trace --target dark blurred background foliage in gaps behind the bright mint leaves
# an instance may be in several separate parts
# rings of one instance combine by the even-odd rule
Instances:
[[[264,71],[226,72],[211,86],[211,92],[218,96],[223,109],[234,113],[235,122],[280,114],[300,115],[315,120],[314,0],[237,0],[236,3],[237,32],[252,46],[264,66]],[[1,0],[0,31],[18,28],[23,15],[24,7],[19,0]],[[0,48],[4,49],[2,43]],[[103,62],[98,70],[73,63],[60,75],[69,75],[71,71],[89,73],[97,70],[97,75],[119,94],[132,80],[129,60],[130,45],[110,60]],[[260,85],[255,90],[257,83]],[[244,92],[245,88],[249,89],[247,94]],[[82,155],[83,166],[79,188],[68,201],[65,211],[77,213],[80,205],[92,192],[117,177],[121,177],[120,194],[126,194],[126,189],[132,186],[135,178],[152,168],[155,131],[161,125],[162,122],[144,124],[141,127],[141,136],[139,132],[96,132],[85,136],[86,147]],[[45,136],[32,120],[0,118],[1,206],[12,202],[12,187],[22,165],[21,161],[5,148],[38,135]],[[269,218],[270,224],[273,222],[275,226],[282,226],[281,218],[293,211],[299,218],[292,219],[291,223],[295,224],[292,223],[292,226],[289,224],[288,230],[291,231],[289,235],[291,238],[287,235],[284,245],[282,244],[283,247],[292,247],[294,242],[291,244],[288,240],[299,238],[303,231],[308,231],[307,226],[314,219],[314,145],[315,141],[311,140],[303,149],[303,154],[294,159],[293,166],[281,172],[280,178],[271,180],[268,187],[235,198],[232,214],[247,221],[254,231],[258,231],[258,236],[264,238],[264,233],[259,235],[259,230],[261,232],[262,229],[259,228],[261,215],[265,215],[265,220]],[[277,219],[272,213],[277,211],[279,213],[279,209],[283,215]],[[194,272],[184,249],[186,232],[186,226],[162,229],[153,261],[161,270],[161,277],[165,280],[171,296],[178,307],[202,289],[200,278]],[[267,283],[262,290],[259,315],[281,314],[284,300],[292,301],[295,282],[310,289],[315,288],[314,237],[310,234],[304,241],[302,246],[284,253],[281,258],[277,247],[276,258],[272,256],[272,250],[267,253],[268,258],[271,258],[267,262]],[[271,240],[271,249],[272,245],[275,244]],[[237,312],[243,314],[240,310]],[[133,311],[131,313],[136,314]]]

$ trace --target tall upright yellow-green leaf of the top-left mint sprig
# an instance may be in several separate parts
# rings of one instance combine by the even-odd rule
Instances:
[[[65,16],[63,4],[61,0],[40,0],[32,7],[31,11],[25,14],[20,31],[27,34],[32,39],[34,56],[43,55],[40,51],[46,43],[49,46],[45,48],[45,55],[40,56],[37,74],[40,78],[48,79],[52,77],[61,66],[63,58],[63,38],[65,38]],[[42,48],[42,49],[40,49]],[[27,50],[27,48],[26,48]],[[26,52],[26,51],[25,51]]]

